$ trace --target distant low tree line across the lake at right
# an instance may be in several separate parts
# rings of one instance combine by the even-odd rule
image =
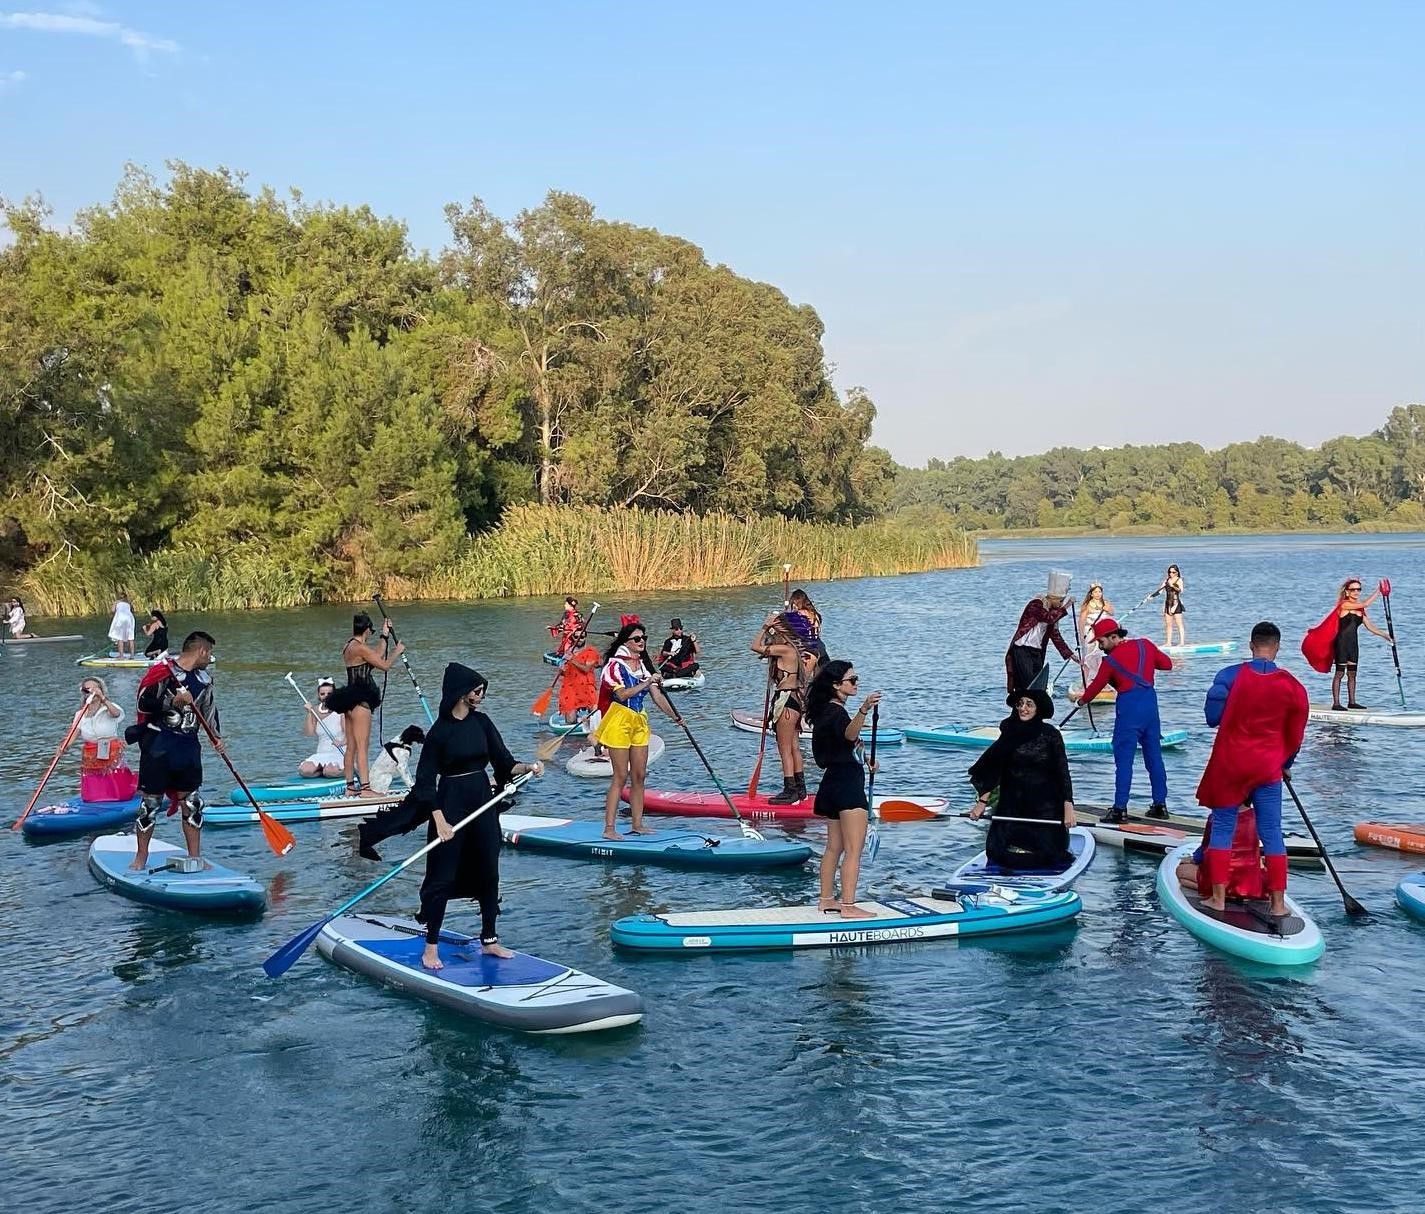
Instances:
[[[1317,449],[1261,437],[1216,452],[1164,443],[932,459],[898,470],[892,503],[943,510],[970,529],[1425,529],[1425,405]]]

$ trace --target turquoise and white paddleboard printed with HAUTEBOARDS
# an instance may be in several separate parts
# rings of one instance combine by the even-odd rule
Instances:
[[[1039,891],[986,891],[942,898],[864,899],[869,919],[842,919],[815,906],[745,910],[691,910],[631,915],[613,925],[613,942],[653,952],[724,949],[825,949],[838,945],[901,945],[946,936],[1023,932],[1073,919],[1079,895]]]

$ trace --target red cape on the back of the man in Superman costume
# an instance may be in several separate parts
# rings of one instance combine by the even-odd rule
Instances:
[[[1281,779],[1307,735],[1307,688],[1295,675],[1243,663],[1227,692],[1197,802],[1210,809],[1241,805],[1254,788]]]

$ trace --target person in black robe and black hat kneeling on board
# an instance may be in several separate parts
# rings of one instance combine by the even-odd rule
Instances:
[[[1073,863],[1069,829],[1076,819],[1069,752],[1063,734],[1049,724],[1054,701],[1039,688],[1017,688],[1005,702],[1013,711],[999,722],[999,737],[969,769],[976,792],[970,818],[985,814],[989,795],[998,788],[985,858],[1006,872],[1062,872]],[[1045,825],[1002,818],[1033,818]]]

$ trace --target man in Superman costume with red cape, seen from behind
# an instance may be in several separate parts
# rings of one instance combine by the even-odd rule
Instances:
[[[1281,834],[1281,774],[1307,734],[1307,688],[1277,665],[1281,630],[1263,620],[1251,630],[1251,658],[1217,673],[1203,707],[1217,730],[1213,752],[1197,785],[1197,801],[1211,811],[1211,834],[1203,863],[1211,895],[1207,910],[1227,902],[1231,846],[1238,806],[1251,801],[1257,835],[1267,854],[1267,896],[1271,915],[1287,913],[1287,844]],[[1120,710],[1121,700],[1120,700]]]

